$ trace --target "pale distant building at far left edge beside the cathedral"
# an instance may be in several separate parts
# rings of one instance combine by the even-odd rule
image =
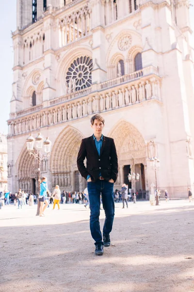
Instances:
[[[7,136],[0,134],[0,192],[7,190]],[[10,173],[9,173],[10,174]]]

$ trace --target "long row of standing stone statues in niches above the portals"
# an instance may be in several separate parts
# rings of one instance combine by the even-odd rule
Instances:
[[[76,93],[76,92],[75,92]],[[114,88],[90,92],[64,103],[50,105],[37,113],[9,120],[9,136],[30,132],[45,126],[68,122],[88,115],[135,106],[148,100],[161,101],[161,78],[142,76]]]

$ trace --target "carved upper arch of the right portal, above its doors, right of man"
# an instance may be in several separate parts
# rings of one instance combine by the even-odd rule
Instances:
[[[113,127],[109,136],[114,139],[119,160],[124,160],[124,157],[129,159],[146,158],[146,144],[139,130],[121,120]]]

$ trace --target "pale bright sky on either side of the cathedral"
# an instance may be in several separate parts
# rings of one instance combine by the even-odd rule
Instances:
[[[16,30],[16,0],[0,0],[0,133],[7,134],[13,82],[13,47],[11,31]],[[191,28],[194,31],[194,0],[190,1]]]

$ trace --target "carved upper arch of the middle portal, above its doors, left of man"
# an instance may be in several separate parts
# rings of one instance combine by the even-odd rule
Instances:
[[[66,173],[77,170],[77,154],[84,136],[74,127],[67,126],[57,137],[51,151],[50,171]]]

